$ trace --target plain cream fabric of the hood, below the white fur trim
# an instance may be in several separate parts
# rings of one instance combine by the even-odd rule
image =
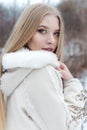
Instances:
[[[31,69],[16,68],[5,72],[1,80],[1,90],[5,96],[9,96],[20,86],[24,78],[31,72]]]

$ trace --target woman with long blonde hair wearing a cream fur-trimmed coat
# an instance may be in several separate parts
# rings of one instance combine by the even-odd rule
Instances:
[[[28,6],[4,47],[0,130],[80,130],[83,87],[61,62],[63,23],[45,4]]]

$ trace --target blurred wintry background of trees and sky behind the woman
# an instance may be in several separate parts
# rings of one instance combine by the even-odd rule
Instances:
[[[60,10],[65,26],[63,60],[87,88],[87,0],[0,0],[0,52],[26,5],[39,2]]]

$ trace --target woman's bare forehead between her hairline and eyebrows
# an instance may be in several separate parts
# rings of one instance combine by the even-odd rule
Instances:
[[[59,19],[55,15],[46,15],[42,19],[40,25],[59,29]]]

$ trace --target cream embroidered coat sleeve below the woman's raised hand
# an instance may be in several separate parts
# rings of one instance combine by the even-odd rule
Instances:
[[[81,130],[85,113],[85,96],[83,86],[78,79],[64,81],[64,98],[69,110],[67,116],[69,129]]]

